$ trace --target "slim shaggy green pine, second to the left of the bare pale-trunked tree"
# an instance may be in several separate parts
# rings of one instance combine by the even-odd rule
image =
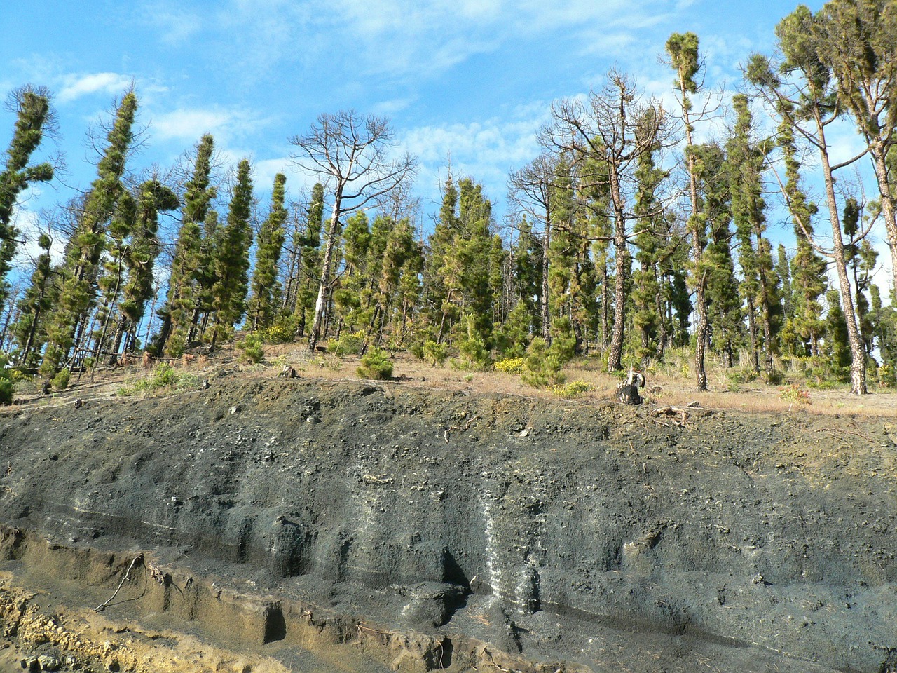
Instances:
[[[277,282],[277,265],[286,237],[284,224],[287,212],[283,207],[285,184],[286,176],[283,173],[274,176],[271,209],[258,232],[256,267],[252,273],[252,297],[249,300],[253,329],[270,326],[274,321],[276,307],[280,304],[281,285]]]

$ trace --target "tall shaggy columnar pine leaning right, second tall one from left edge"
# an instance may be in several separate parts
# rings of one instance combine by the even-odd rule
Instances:
[[[88,319],[91,310],[100,255],[106,243],[106,226],[115,212],[124,187],[128,150],[133,139],[137,96],[126,92],[118,104],[116,118],[109,129],[108,144],[97,166],[98,177],[84,197],[77,227],[68,241],[65,258],[65,282],[48,322],[48,345],[41,372],[51,375],[68,359],[75,343],[75,330]]]

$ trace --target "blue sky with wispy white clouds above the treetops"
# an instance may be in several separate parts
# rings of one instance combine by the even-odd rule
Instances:
[[[818,9],[821,2],[808,3]],[[210,132],[225,163],[248,156],[257,194],[287,173],[292,197],[308,176],[288,138],[318,114],[356,109],[391,119],[416,154],[422,223],[455,175],[483,183],[496,213],[505,180],[539,152],[551,101],[600,86],[617,66],[672,101],[658,63],[673,31],[701,38],[707,81],[728,93],[739,63],[770,52],[790,2],[713,0],[54,0],[7,3],[0,23],[0,91],[24,83],[55,94],[65,184],[27,197],[22,223],[93,179],[87,129],[134,81],[147,127],[132,170],[167,168]],[[108,115],[107,115],[108,116]],[[0,111],[0,144],[13,115]],[[711,131],[708,131],[711,133]],[[858,138],[844,138],[845,152]],[[48,145],[48,149],[53,145]],[[771,236],[779,238],[776,223]],[[789,227],[781,226],[787,236]],[[884,259],[882,259],[884,261]]]

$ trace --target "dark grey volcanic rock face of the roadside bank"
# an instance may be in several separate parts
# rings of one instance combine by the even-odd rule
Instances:
[[[0,521],[534,659],[875,670],[895,444],[854,423],[216,383],[4,416]]]

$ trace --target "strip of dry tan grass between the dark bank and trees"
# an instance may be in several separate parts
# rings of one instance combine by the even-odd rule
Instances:
[[[528,386],[518,374],[500,371],[463,371],[445,366],[431,367],[414,358],[410,354],[396,354],[394,380],[403,385],[426,389],[463,390],[484,394],[509,395],[524,398],[558,400],[558,395],[549,389],[535,389]],[[358,357],[337,357],[333,354],[309,354],[304,345],[299,343],[268,345],[265,348],[265,364],[238,363],[231,347],[224,347],[213,356],[197,355],[195,359],[174,361],[171,364],[179,371],[187,371],[199,377],[211,378],[213,371],[228,368],[239,376],[248,378],[267,378],[279,373],[284,364],[292,366],[300,376],[322,380],[357,380],[355,373],[359,365]],[[690,402],[698,402],[710,409],[734,409],[749,413],[769,414],[810,414],[810,415],[857,415],[897,417],[897,391],[875,390],[874,394],[865,397],[851,395],[844,387],[841,389],[809,389],[809,402],[804,404],[792,399],[783,398],[781,386],[770,386],[762,381],[753,380],[738,386],[731,384],[731,370],[720,363],[710,363],[708,371],[708,392],[698,393],[693,388],[690,374],[689,358],[686,354],[672,353],[662,365],[649,367],[646,372],[648,384],[642,394],[649,406],[684,406]],[[589,389],[580,393],[577,399],[585,403],[604,403],[615,400],[615,390],[620,382],[619,377],[600,371],[597,358],[580,358],[564,369],[568,381],[581,380]],[[22,386],[18,404],[65,403],[66,400],[82,397],[111,397],[122,386],[134,385],[152,375],[151,371],[140,369],[139,363],[114,370],[94,372],[94,380],[90,375],[80,379],[72,376],[70,388],[64,393],[57,393],[46,398],[37,394],[36,384]],[[30,388],[34,388],[32,391]]]

